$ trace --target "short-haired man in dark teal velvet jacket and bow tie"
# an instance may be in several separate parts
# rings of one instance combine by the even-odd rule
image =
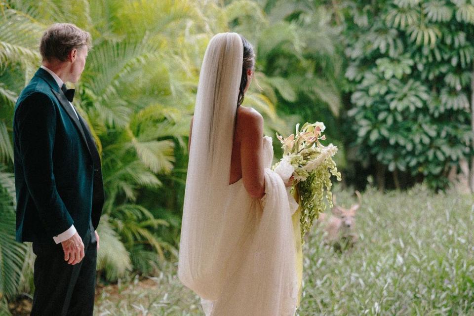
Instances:
[[[99,153],[76,111],[74,90],[91,37],[54,24],[42,65],[18,97],[13,119],[16,239],[36,254],[31,315],[92,315],[104,190]]]

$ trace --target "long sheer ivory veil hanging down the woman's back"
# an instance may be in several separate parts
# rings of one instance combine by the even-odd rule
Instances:
[[[216,299],[232,251],[226,214],[234,122],[243,60],[237,33],[210,40],[197,87],[181,227],[178,276],[199,296]]]

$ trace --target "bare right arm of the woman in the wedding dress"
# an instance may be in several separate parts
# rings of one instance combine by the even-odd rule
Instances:
[[[261,198],[265,195],[265,167],[263,118],[260,113],[253,109],[238,111],[237,134],[240,140],[243,186],[251,197]]]

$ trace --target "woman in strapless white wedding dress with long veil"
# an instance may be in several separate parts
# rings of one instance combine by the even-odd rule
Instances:
[[[263,118],[240,106],[255,63],[237,33],[217,34],[199,75],[178,277],[206,316],[293,316],[296,249],[285,185],[270,169]],[[192,139],[191,139],[192,138]]]

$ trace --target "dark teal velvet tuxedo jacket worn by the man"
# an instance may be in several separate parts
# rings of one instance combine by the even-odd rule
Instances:
[[[16,240],[53,243],[74,224],[84,238],[104,204],[97,148],[57,82],[39,69],[15,105]]]

